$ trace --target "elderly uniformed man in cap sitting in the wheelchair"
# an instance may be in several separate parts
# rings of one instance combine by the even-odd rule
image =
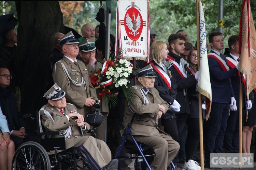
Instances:
[[[77,147],[93,169],[115,169],[118,160],[111,160],[111,152],[106,143],[92,136],[83,136],[90,126],[84,117],[76,112],[73,104],[66,103],[66,92],[57,84],[44,97],[48,104],[40,109],[42,124],[46,131],[61,131],[65,135],[66,149]],[[52,135],[58,138],[61,135]],[[54,151],[53,151],[54,153]]]

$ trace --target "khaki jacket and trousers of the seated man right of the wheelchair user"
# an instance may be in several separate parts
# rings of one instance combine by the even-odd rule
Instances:
[[[132,123],[132,135],[139,142],[145,143],[154,149],[155,157],[150,165],[152,169],[167,169],[168,165],[179,151],[180,146],[172,137],[158,128],[158,119],[155,118],[155,115],[157,115],[159,111],[158,104],[165,106],[165,111],[170,109],[169,104],[160,98],[156,88],[147,91],[145,87],[143,88],[143,86],[139,84],[132,87],[132,90],[134,91],[134,97],[131,102],[128,103],[128,101],[126,101],[125,103],[123,124],[127,126],[134,112],[141,115],[142,121],[134,120]],[[149,121],[146,122],[147,119]]]

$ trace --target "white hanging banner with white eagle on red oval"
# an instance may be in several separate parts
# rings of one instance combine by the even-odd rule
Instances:
[[[148,61],[150,40],[149,0],[117,0],[116,54]]]

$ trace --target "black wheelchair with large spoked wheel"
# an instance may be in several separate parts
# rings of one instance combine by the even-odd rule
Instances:
[[[43,126],[41,124],[40,114],[36,112],[36,118],[32,114],[26,115],[34,122],[37,127],[36,134],[29,135],[35,141],[27,141],[23,143],[15,152],[12,169],[18,170],[75,170],[77,168],[94,170],[88,160],[80,153],[79,147],[66,150],[65,136],[60,132],[41,132]],[[62,135],[60,138],[48,138],[49,135]],[[47,152],[54,151],[48,155]],[[81,162],[82,165],[77,163]]]

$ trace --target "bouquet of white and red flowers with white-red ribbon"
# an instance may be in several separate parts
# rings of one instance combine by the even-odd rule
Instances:
[[[131,93],[128,93],[130,89],[128,77],[132,73],[132,68],[133,65],[122,58],[116,63],[111,61],[111,58],[105,61],[102,68],[90,77],[95,88],[102,89],[102,92],[99,93],[100,98],[105,98],[107,103],[115,106],[118,102],[117,96],[112,93],[115,88],[122,88],[125,97],[131,98]]]

